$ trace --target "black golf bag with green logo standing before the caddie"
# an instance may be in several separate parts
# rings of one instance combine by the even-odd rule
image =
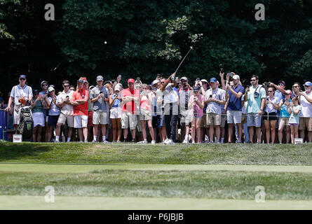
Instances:
[[[18,134],[22,134],[22,139],[29,140],[32,138],[34,130],[34,120],[30,106],[23,106],[20,109],[20,123],[18,124]]]

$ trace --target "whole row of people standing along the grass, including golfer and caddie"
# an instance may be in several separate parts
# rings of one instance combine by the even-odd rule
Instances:
[[[158,75],[151,83],[129,78],[127,86],[103,76],[81,77],[70,85],[62,81],[60,92],[43,80],[41,90],[19,84],[0,98],[15,125],[20,108],[31,106],[32,141],[81,141],[137,144],[294,143],[312,141],[312,83],[295,82],[286,90],[283,80],[260,85],[257,75],[243,87],[240,76],[219,73],[206,79],[168,78]],[[130,131],[130,132],[129,132]],[[224,140],[225,139],[225,140]]]

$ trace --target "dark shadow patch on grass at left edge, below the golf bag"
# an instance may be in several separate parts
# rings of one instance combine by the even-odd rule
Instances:
[[[36,157],[41,153],[52,151],[53,146],[31,144],[0,144],[0,162]]]

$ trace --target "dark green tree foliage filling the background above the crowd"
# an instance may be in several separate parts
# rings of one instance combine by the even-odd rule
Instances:
[[[242,80],[303,81],[312,72],[311,0],[264,0],[264,21],[255,20],[256,0],[63,0],[54,1],[55,21],[44,20],[53,1],[0,2],[0,73],[10,85],[18,72],[35,86],[38,76],[60,85],[100,73],[150,83],[175,71],[191,45],[179,77],[217,76],[219,64]]]

